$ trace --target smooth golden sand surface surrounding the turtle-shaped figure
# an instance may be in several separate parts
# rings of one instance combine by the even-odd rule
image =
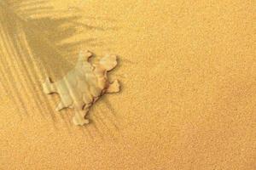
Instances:
[[[79,21],[57,20],[56,12],[56,20],[23,23],[0,9],[0,169],[256,167],[253,2],[51,5]],[[62,31],[73,25],[62,33],[60,23]],[[67,46],[59,48],[59,40]],[[85,127],[73,125],[72,110],[55,111],[58,96],[42,90],[47,76],[57,80],[73,68],[80,49],[92,51],[95,62],[117,54],[119,66],[109,74],[122,86],[93,106]]]

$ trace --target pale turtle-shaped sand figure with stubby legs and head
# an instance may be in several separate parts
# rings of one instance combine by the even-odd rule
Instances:
[[[119,92],[119,82],[108,81],[108,71],[117,65],[115,55],[106,55],[96,65],[91,65],[88,59],[92,56],[89,51],[80,52],[79,59],[72,71],[57,82],[50,78],[43,84],[45,94],[59,94],[61,102],[56,111],[72,108],[75,111],[73,123],[84,125],[89,123],[85,116],[97,99],[103,94]]]

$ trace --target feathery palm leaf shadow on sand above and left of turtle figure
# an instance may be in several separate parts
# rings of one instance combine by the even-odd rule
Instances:
[[[31,106],[25,101],[30,99],[42,116],[46,112],[55,122],[55,111],[42,94],[42,81],[46,76],[60,77],[55,72],[65,74],[73,67],[68,61],[71,55],[84,45],[98,42],[96,38],[67,41],[78,34],[77,26],[104,31],[101,27],[79,24],[80,18],[79,14],[55,10],[48,0],[0,1],[0,73],[18,111],[28,113]],[[15,76],[20,71],[26,73],[24,77]],[[24,95],[19,95],[20,89]]]

